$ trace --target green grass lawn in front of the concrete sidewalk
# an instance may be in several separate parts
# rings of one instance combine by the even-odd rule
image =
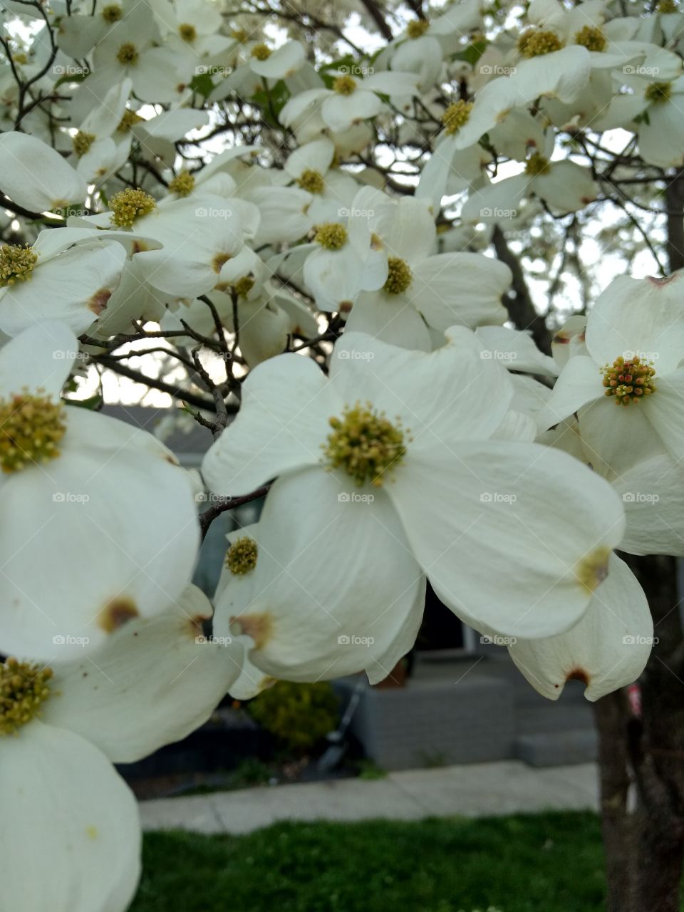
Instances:
[[[602,912],[595,814],[145,836],[130,912]]]

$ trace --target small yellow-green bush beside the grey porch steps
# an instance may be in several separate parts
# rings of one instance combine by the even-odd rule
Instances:
[[[248,705],[254,720],[286,747],[304,751],[337,727],[339,705],[326,681],[293,684],[278,681]]]

